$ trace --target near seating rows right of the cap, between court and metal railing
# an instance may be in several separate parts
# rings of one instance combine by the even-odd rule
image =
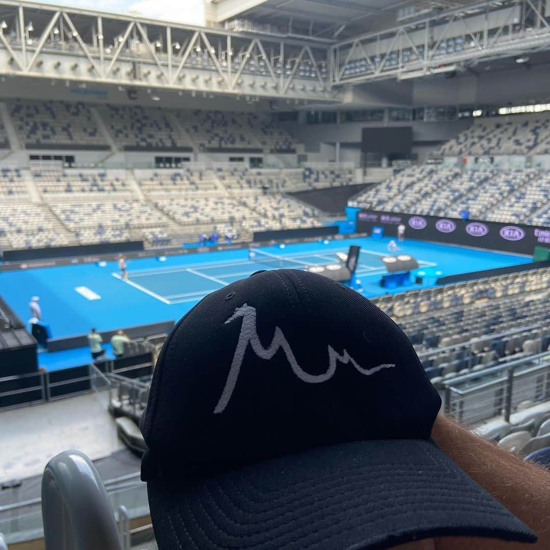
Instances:
[[[450,377],[546,350],[549,288],[550,269],[543,268],[373,302],[409,336],[431,378]]]

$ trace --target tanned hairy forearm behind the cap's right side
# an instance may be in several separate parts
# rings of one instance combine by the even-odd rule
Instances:
[[[550,472],[516,458],[442,415],[434,423],[432,438],[456,465],[538,536],[536,544],[494,541],[493,546],[486,541],[484,549],[550,548]]]

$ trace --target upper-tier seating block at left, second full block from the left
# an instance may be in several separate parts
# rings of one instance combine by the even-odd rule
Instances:
[[[97,107],[115,143],[124,151],[190,153],[193,146],[166,109],[137,105]]]

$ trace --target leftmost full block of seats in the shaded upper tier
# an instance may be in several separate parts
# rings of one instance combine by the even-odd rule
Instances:
[[[15,99],[6,105],[27,149],[109,149],[90,107],[81,102]]]

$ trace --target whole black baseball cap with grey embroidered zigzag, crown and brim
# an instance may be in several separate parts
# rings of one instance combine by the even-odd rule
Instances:
[[[350,288],[285,269],[213,292],[168,335],[141,418],[158,547],[535,542],[430,439],[440,407],[403,331]]]

